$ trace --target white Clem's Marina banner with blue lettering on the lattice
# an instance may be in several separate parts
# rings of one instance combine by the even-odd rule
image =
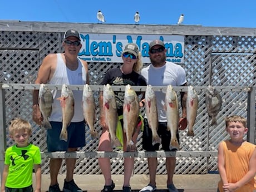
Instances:
[[[165,43],[166,60],[184,63],[184,36],[178,35],[124,35],[81,33],[82,47],[78,56],[87,62],[122,62],[122,50],[127,43],[139,46],[142,62],[150,63],[149,43],[162,40]]]

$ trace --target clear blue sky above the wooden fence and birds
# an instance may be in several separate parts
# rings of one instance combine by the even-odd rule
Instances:
[[[205,27],[256,27],[255,0],[0,0],[0,20],[97,23],[96,13],[104,13],[106,23],[176,24],[184,14],[184,24]]]

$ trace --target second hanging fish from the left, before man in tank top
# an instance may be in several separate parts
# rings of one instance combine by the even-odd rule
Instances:
[[[61,97],[57,99],[60,100],[62,107],[62,129],[60,140],[67,141],[67,127],[70,125],[74,116],[75,106],[72,90],[70,90],[66,84],[63,84],[61,88]]]

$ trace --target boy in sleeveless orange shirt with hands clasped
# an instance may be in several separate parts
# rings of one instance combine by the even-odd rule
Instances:
[[[218,191],[253,192],[256,173],[256,146],[243,139],[248,132],[247,120],[241,116],[225,119],[230,139],[218,148],[218,168],[221,180]]]

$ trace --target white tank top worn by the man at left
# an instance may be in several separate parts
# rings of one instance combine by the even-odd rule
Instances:
[[[51,85],[84,85],[86,83],[86,72],[85,68],[78,60],[78,67],[75,71],[71,71],[66,67],[66,63],[63,61],[61,53],[57,53],[57,65],[53,77],[48,82]],[[82,91],[72,90],[75,99],[75,114],[71,122],[83,121],[82,112]],[[61,90],[52,90],[53,95],[53,105],[52,105],[52,115],[50,116],[50,121],[62,121],[62,110],[60,105],[60,100],[57,100],[61,96]]]

